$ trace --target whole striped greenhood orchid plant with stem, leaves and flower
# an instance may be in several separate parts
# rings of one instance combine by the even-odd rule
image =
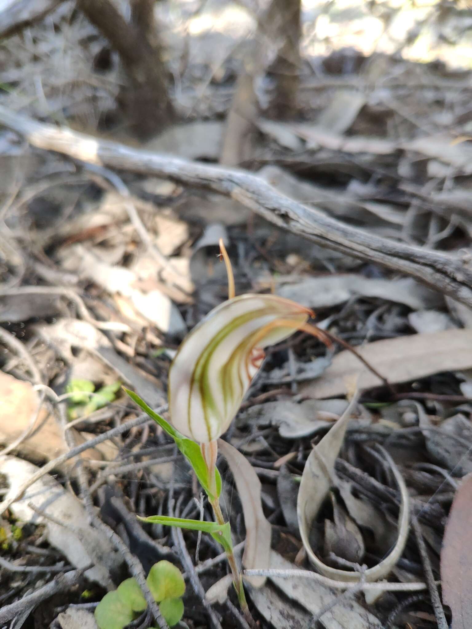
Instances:
[[[206,530],[220,541],[227,553],[233,585],[250,626],[255,626],[245,599],[242,576],[233,553],[229,524],[220,508],[221,476],[216,469],[217,439],[236,415],[254,376],[264,360],[264,348],[274,345],[297,330],[303,330],[330,345],[328,331],[310,325],[312,311],[273,294],[235,297],[233,273],[228,254],[220,240],[221,257],[228,272],[229,298],[213,309],[184,338],[169,369],[169,411],[172,426],[136,394],[131,398],[172,437],[192,465],[206,491],[216,525],[158,516],[160,523]],[[339,339],[338,339],[339,340]],[[347,347],[384,380],[356,350]],[[385,381],[386,382],[386,381]],[[388,384],[388,383],[386,383]],[[199,447],[197,443],[199,443]],[[154,521],[147,518],[145,521]],[[205,526],[205,528],[203,528]],[[216,526],[216,528],[215,528]],[[226,537],[222,536],[226,531]]]

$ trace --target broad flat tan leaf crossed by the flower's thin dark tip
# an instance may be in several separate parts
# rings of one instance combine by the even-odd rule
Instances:
[[[472,330],[444,330],[388,338],[366,343],[357,348],[357,352],[391,384],[409,382],[472,367]],[[301,384],[300,393],[310,398],[334,398],[346,393],[346,382],[356,376],[361,390],[382,384],[356,356],[344,350],[334,357],[321,377]]]

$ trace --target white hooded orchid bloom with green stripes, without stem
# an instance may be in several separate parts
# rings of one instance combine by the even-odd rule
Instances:
[[[172,425],[199,443],[220,437],[261,367],[263,348],[289,337],[310,315],[310,309],[275,295],[241,295],[213,309],[172,361]]]

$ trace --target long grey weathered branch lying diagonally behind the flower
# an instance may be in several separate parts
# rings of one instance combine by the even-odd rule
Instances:
[[[67,128],[38,123],[2,106],[0,124],[20,133],[35,147],[63,153],[82,162],[167,177],[186,186],[203,187],[230,196],[274,225],[317,245],[413,276],[472,307],[472,270],[461,260],[346,225],[284,196],[245,170],[199,164],[105,142]]]

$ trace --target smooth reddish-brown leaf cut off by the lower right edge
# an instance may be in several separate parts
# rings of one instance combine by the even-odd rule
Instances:
[[[452,502],[441,551],[442,598],[452,611],[451,629],[472,626],[472,474],[461,482]]]

